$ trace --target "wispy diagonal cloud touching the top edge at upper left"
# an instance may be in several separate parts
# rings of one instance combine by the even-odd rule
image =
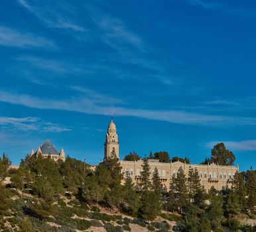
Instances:
[[[37,0],[18,0],[18,2],[46,27],[69,29],[76,32],[86,31],[84,27],[74,21],[76,18],[74,7],[64,1],[51,1],[51,4],[45,4],[43,1]]]

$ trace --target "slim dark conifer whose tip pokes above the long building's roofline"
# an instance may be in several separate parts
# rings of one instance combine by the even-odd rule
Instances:
[[[143,194],[145,192],[148,192],[151,189],[150,176],[151,176],[151,170],[149,166],[149,160],[147,158],[144,158],[143,165],[142,165],[142,172],[141,172],[140,181],[139,181],[139,187],[141,188],[141,191],[143,192]]]

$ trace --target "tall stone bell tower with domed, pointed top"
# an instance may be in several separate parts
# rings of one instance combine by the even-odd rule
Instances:
[[[104,159],[111,156],[111,154],[113,153],[115,153],[117,158],[119,158],[118,135],[115,123],[113,123],[113,119],[111,119],[111,123],[109,123],[109,126],[107,128],[104,148]]]

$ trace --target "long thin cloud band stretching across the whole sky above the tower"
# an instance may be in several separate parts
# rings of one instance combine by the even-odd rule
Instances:
[[[77,111],[95,115],[117,115],[143,117],[159,121],[168,121],[170,123],[180,123],[186,125],[202,126],[246,126],[256,125],[255,118],[247,117],[227,117],[219,115],[204,115],[200,113],[190,113],[186,111],[162,111],[151,109],[130,109],[105,103],[99,105],[95,99],[84,97],[72,97],[67,100],[40,99],[32,95],[21,95],[0,91],[0,101],[24,105],[36,109],[57,109],[64,111]]]

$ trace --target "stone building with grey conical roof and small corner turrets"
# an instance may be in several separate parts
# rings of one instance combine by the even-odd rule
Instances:
[[[41,155],[42,158],[48,158],[48,156],[50,156],[50,158],[52,158],[55,161],[59,159],[65,161],[66,159],[64,149],[62,148],[60,152],[58,152],[55,146],[52,145],[52,143],[50,143],[48,139],[44,142],[43,145],[40,145],[38,147],[36,152],[34,152],[33,149],[31,150],[30,156],[38,157],[39,155]]]

